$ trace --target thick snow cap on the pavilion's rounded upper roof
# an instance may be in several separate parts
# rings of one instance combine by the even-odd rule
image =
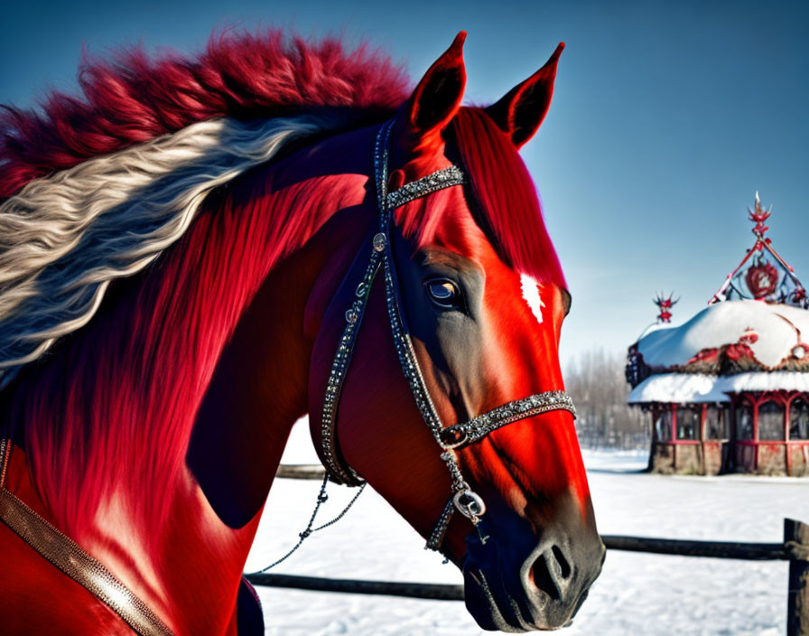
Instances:
[[[790,355],[800,333],[809,333],[809,311],[755,300],[710,304],[687,323],[647,333],[638,351],[650,367],[672,367],[703,349],[737,342],[748,332],[758,336],[750,344],[757,360],[773,367]]]

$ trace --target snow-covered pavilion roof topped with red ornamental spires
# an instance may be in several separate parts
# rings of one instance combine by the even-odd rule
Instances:
[[[757,192],[749,210],[755,242],[708,306],[676,327],[665,324],[670,311],[661,319],[661,308],[654,328],[629,348],[630,402],[713,402],[736,390],[809,390],[809,298],[766,236],[769,216]],[[658,295],[658,307],[661,299],[670,310],[672,297]]]

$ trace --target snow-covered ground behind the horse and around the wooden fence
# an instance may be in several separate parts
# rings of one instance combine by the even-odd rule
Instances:
[[[640,473],[645,454],[585,453],[602,534],[778,542],[785,517],[809,521],[809,481],[731,475]],[[285,463],[316,463],[306,426],[296,426]],[[319,482],[278,480],[247,571],[292,547]],[[353,490],[330,487],[323,520]],[[780,635],[786,631],[786,562],[730,561],[609,551],[565,636],[598,634]],[[423,549],[403,519],[370,489],[334,528],[312,536],[276,572],[460,583],[454,566]],[[258,588],[267,634],[484,634],[463,603]]]

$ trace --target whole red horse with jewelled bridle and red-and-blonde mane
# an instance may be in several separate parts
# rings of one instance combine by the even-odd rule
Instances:
[[[243,569],[306,414],[483,629],[571,621],[605,551],[518,154],[563,44],[476,108],[465,37],[412,90],[367,48],[228,33],[5,109],[5,633],[263,633]]]

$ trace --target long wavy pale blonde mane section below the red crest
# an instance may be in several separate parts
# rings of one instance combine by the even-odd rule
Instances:
[[[88,323],[111,280],[180,239],[211,190],[339,119],[211,119],[34,180],[0,203],[0,387]]]

